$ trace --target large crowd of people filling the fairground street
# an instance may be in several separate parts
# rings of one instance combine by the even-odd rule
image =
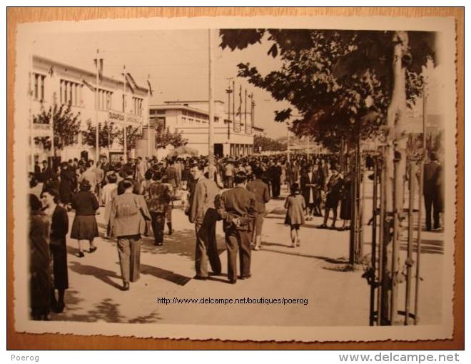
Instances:
[[[194,278],[207,279],[208,264],[212,274],[221,274],[216,223],[223,221],[228,281],[236,283],[251,276],[251,251],[262,246],[265,204],[280,198],[283,186],[288,191],[284,207],[291,247],[300,246],[299,229],[313,216],[323,216],[318,228],[328,228],[332,211],[330,228],[349,228],[352,175],[340,169],[336,155],[292,156],[289,161],[284,155],[215,158],[213,171],[206,157],[111,162],[103,156],[97,163],[82,158],[57,168],[47,161],[42,167],[36,163],[29,195],[32,317],[46,319],[51,309],[65,308],[68,211],[75,211],[70,238],[77,241],[78,258],[85,256],[85,244],[88,253],[99,248],[96,215],[103,213],[103,238],[116,238],[121,289],[129,290],[139,278],[141,236],[152,235],[154,244],[162,246],[166,226],[173,233],[172,211],[180,200],[195,226]],[[343,224],[337,228],[339,204]]]

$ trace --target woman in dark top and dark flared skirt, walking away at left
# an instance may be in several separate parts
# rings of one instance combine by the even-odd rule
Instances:
[[[74,223],[72,223],[71,238],[77,239],[78,258],[85,256],[83,254],[81,241],[88,240],[90,243],[89,253],[96,251],[93,239],[98,236],[98,225],[96,223],[96,210],[99,204],[96,196],[90,192],[91,185],[85,179],[80,183],[80,191],[72,196],[72,208],[75,210]]]

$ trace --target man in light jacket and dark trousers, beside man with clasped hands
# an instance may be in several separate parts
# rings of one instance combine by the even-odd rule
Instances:
[[[189,198],[188,218],[191,223],[195,224],[195,279],[206,280],[208,259],[213,273],[221,273],[221,261],[216,242],[216,221],[219,216],[215,206],[219,188],[216,182],[203,176],[203,163],[195,163],[190,171],[194,185]]]

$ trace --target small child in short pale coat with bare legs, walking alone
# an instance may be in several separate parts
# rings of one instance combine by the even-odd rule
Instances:
[[[301,246],[298,231],[301,225],[305,223],[304,211],[306,203],[303,195],[299,193],[299,184],[293,183],[290,187],[291,194],[286,198],[285,208],[286,218],[285,224],[290,226],[291,248]]]

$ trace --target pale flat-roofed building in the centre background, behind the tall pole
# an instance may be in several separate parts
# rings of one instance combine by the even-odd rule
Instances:
[[[149,117],[151,127],[181,133],[188,140],[187,146],[203,156],[208,155],[208,101],[166,101],[163,105],[151,105]],[[214,102],[213,125],[216,156],[248,156],[253,153],[252,128],[245,128],[244,121],[234,128],[233,121],[226,117],[223,101]]]

